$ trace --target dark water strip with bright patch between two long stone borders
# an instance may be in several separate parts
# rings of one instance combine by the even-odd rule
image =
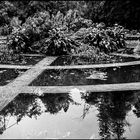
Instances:
[[[45,70],[30,86],[70,86],[140,82],[140,65],[96,69]]]

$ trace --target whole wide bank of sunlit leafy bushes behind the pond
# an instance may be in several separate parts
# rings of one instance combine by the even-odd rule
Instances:
[[[8,46],[16,53],[65,55],[82,51],[84,46],[88,47],[84,49],[87,54],[109,53],[125,46],[123,31],[119,25],[106,27],[103,23],[92,23],[82,18],[77,10],[52,16],[44,11],[13,28]]]

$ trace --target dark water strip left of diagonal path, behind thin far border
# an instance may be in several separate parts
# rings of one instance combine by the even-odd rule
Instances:
[[[0,56],[2,57],[2,56]],[[39,61],[41,61],[44,56],[18,56],[13,60],[6,60],[0,58],[0,64],[11,64],[11,65],[35,65]]]

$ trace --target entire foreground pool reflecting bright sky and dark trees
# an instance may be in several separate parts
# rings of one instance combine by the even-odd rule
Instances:
[[[140,91],[20,94],[0,112],[3,138],[140,138]]]

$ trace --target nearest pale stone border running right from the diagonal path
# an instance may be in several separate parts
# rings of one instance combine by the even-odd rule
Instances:
[[[121,84],[100,84],[100,85],[81,85],[81,86],[28,86],[22,88],[22,93],[68,93],[71,89],[77,88],[89,92],[109,92],[109,91],[130,91],[140,90],[140,82],[121,83]]]

